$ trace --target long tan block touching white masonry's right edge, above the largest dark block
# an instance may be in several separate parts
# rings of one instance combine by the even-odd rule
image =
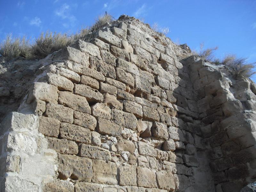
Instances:
[[[77,154],[78,146],[74,141],[70,141],[67,139],[56,139],[47,137],[48,140],[48,148],[54,149],[62,154]]]

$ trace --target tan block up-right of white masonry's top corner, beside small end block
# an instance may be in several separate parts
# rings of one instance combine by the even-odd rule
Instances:
[[[45,116],[58,119],[62,122],[73,123],[74,110],[58,104],[47,103]]]

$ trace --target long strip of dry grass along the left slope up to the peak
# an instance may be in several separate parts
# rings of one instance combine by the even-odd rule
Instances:
[[[93,38],[93,32],[107,26],[112,21],[111,15],[101,15],[91,27],[82,28],[76,34],[67,35],[47,31],[46,33],[41,33],[32,44],[26,38],[12,38],[9,35],[0,44],[0,54],[6,57],[7,60],[18,56],[26,59],[42,59],[54,51],[74,44],[78,39],[90,42]]]

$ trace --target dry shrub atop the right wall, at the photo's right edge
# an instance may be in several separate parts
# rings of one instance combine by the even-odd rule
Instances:
[[[231,73],[236,77],[250,77],[256,74],[255,63],[247,63],[246,58],[236,58],[235,55],[227,55],[221,64],[231,69]]]

